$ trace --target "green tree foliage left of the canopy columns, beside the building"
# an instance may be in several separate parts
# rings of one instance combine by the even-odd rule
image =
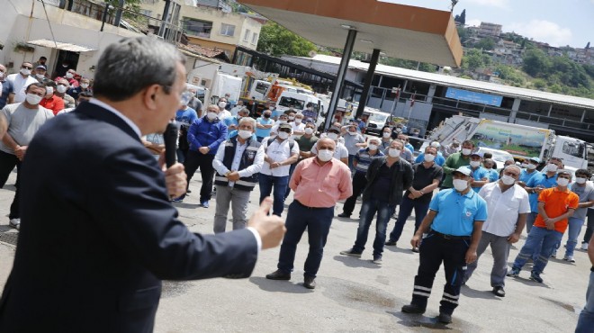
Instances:
[[[257,50],[272,56],[291,55],[306,57],[311,50],[317,49],[310,41],[288,31],[274,22],[268,22],[260,31]]]

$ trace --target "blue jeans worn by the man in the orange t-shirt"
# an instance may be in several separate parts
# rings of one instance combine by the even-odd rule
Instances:
[[[559,231],[533,227],[530,229],[524,247],[522,247],[518,257],[514,261],[513,268],[521,270],[526,265],[527,260],[535,252],[538,252],[538,257],[535,260],[535,266],[532,268],[532,271],[538,274],[543,273],[546,264],[549,262],[549,257],[551,257],[554,249],[559,245],[561,238],[563,238],[563,233]]]

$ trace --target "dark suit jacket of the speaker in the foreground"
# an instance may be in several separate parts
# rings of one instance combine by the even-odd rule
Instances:
[[[117,115],[83,103],[35,135],[0,332],[150,332],[161,280],[247,277],[247,229],[202,236],[177,220],[165,177]]]

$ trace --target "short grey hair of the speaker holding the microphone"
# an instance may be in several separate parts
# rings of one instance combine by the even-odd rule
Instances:
[[[109,45],[99,58],[94,94],[120,102],[149,85],[161,85],[169,94],[178,63],[184,65],[185,57],[164,41],[151,37],[120,40]]]

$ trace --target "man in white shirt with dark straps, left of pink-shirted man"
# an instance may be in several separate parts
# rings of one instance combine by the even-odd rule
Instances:
[[[262,140],[266,153],[264,166],[260,171],[260,202],[273,191],[273,214],[281,216],[284,209],[284,193],[289,185],[289,170],[291,165],[299,158],[299,145],[291,136],[291,125],[282,123],[278,126],[278,135],[275,138]]]

